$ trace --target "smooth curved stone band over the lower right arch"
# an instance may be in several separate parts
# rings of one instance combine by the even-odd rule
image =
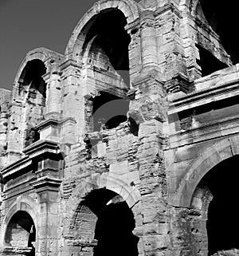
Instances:
[[[172,193],[171,204],[190,207],[194,191],[203,176],[221,161],[236,155],[239,155],[239,136],[221,140],[207,148],[186,171],[178,189]]]

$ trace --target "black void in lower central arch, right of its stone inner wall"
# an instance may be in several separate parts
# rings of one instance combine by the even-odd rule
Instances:
[[[126,202],[116,201],[105,207],[96,223],[95,238],[98,246],[94,256],[136,256],[138,238],[132,234],[135,227],[134,216]]]

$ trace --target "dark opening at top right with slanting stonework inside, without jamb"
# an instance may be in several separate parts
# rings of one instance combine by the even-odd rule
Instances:
[[[195,21],[198,25],[197,63],[201,68],[202,77],[236,64],[239,60],[236,37],[234,36],[234,18],[231,6],[214,0],[200,0],[195,9]],[[232,15],[233,16],[233,15]],[[236,28],[234,27],[234,30]]]

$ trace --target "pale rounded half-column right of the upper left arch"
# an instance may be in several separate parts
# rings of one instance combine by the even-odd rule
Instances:
[[[59,119],[60,116],[60,99],[61,99],[61,73],[59,67],[53,65],[50,73],[45,74],[47,83],[45,117]]]

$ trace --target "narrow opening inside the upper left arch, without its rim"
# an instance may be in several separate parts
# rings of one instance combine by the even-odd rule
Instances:
[[[45,65],[40,60],[28,61],[19,79],[20,96],[24,96],[27,105],[25,122],[25,147],[40,139],[35,128],[44,117],[46,85],[42,76],[46,73]]]

